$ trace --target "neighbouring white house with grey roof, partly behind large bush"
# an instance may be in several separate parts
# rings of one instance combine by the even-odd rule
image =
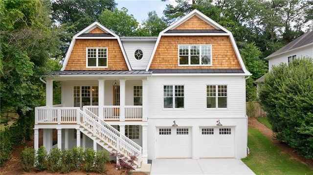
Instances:
[[[265,58],[268,60],[268,72],[272,70],[272,66],[282,62],[289,63],[295,58],[313,58],[313,31],[301,35]],[[265,75],[255,81],[257,89],[264,81]]]

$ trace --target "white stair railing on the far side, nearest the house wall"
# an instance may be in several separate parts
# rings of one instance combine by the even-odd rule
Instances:
[[[120,133],[117,129],[109,125],[107,122],[103,121],[100,117],[93,114],[90,110],[87,108],[84,108],[85,112],[89,114],[93,119],[100,122],[102,125],[104,125],[107,129],[112,131],[113,133],[116,133],[117,136],[121,137],[125,142],[128,142],[132,147],[134,147],[138,152],[142,153],[142,147],[138,145],[136,142],[134,142],[132,139],[128,138],[127,136]]]

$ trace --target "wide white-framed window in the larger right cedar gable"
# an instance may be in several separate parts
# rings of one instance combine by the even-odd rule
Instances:
[[[212,65],[212,45],[179,45],[179,65]]]

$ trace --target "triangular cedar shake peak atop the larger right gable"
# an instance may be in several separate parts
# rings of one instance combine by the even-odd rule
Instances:
[[[204,22],[199,17],[193,16],[184,23],[180,24],[174,30],[216,30],[216,28]]]

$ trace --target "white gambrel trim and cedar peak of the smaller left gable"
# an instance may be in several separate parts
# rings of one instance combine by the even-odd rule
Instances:
[[[70,58],[70,55],[72,53],[73,47],[77,39],[117,39],[118,45],[121,49],[127,68],[129,71],[132,70],[119,36],[114,34],[108,28],[101,25],[99,22],[93,22],[91,25],[83,29],[81,32],[74,35],[72,41],[70,42],[69,48],[67,50],[67,55],[64,59],[61,71],[66,70],[68,59]]]

